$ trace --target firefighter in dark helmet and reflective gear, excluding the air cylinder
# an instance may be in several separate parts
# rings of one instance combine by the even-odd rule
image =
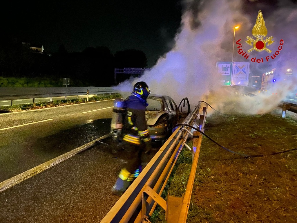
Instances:
[[[150,94],[149,86],[143,82],[134,85],[132,94],[124,101],[126,115],[122,130],[122,144],[127,156],[127,164],[116,180],[112,193],[122,195],[138,176],[141,167],[141,156],[151,150],[151,137],[146,125],[145,111]]]

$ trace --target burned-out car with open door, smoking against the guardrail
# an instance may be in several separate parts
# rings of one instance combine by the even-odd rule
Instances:
[[[149,106],[146,107],[146,124],[151,138],[156,141],[167,140],[172,134],[172,127],[186,118],[191,111],[188,98],[183,98],[179,106],[176,106],[169,96],[149,95],[147,103]]]

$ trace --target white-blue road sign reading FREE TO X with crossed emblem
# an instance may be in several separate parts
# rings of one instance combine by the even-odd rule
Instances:
[[[249,86],[250,62],[233,62],[232,86]]]

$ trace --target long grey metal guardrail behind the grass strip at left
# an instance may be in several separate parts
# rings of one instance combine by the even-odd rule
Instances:
[[[86,95],[89,90],[90,95],[111,95],[116,91],[113,87],[1,87],[0,88],[0,101],[10,100],[12,106],[13,100],[17,99],[32,99],[35,102],[35,98],[48,98],[48,101],[52,101],[53,97],[76,96]],[[25,102],[28,103],[28,102]],[[1,106],[1,105],[0,105]]]

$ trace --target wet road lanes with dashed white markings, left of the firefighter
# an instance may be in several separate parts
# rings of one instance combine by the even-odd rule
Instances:
[[[0,114],[0,182],[110,131],[113,99]]]

